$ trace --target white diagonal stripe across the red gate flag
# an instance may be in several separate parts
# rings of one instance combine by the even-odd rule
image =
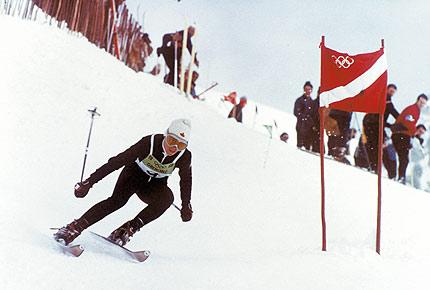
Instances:
[[[386,70],[387,58],[384,53],[371,68],[349,84],[321,93],[320,106],[326,107],[331,103],[355,97],[361,91],[370,87]]]

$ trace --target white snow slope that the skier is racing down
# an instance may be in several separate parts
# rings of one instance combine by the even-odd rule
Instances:
[[[0,16],[0,34],[2,289],[428,288],[428,194],[384,180],[378,256],[376,177],[328,161],[321,252],[318,157],[269,143],[57,28]],[[119,173],[74,198],[91,106],[102,116],[87,174],[172,118],[193,122],[195,215],[182,223],[172,207],[133,237],[130,248],[152,251],[143,264],[110,255],[88,233],[77,259],[51,239],[49,227],[108,197]],[[141,208],[132,197],[92,230],[107,235]]]

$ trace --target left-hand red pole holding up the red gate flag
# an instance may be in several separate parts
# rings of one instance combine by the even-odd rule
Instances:
[[[321,37],[320,48],[325,45],[325,37]],[[322,53],[321,53],[322,62]],[[321,64],[322,67],[322,64]],[[322,75],[321,75],[322,79]],[[320,82],[321,83],[321,82]],[[321,100],[320,100],[321,101]],[[321,167],[321,225],[322,225],[322,251],[327,251],[327,235],[325,223],[325,181],[324,181],[324,108],[319,108],[320,114],[320,167]]]

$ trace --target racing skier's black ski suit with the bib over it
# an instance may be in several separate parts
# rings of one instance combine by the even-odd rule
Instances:
[[[160,217],[173,203],[173,193],[167,186],[168,175],[179,168],[182,204],[191,200],[191,152],[186,149],[167,156],[162,148],[164,135],[156,134],[139,142],[109,159],[98,168],[88,181],[97,183],[111,172],[123,167],[112,196],[90,208],[81,219],[92,225],[123,207],[133,194],[148,204],[133,220],[139,229]],[[160,165],[161,164],[161,165]],[[163,166],[170,165],[170,166]]]

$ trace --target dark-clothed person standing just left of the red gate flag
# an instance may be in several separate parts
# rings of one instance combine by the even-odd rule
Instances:
[[[303,95],[300,96],[294,103],[294,116],[297,118],[297,147],[305,147],[306,150],[312,146],[312,127],[314,121],[312,119],[313,100],[311,98],[313,86],[310,81],[307,81],[303,86]]]

